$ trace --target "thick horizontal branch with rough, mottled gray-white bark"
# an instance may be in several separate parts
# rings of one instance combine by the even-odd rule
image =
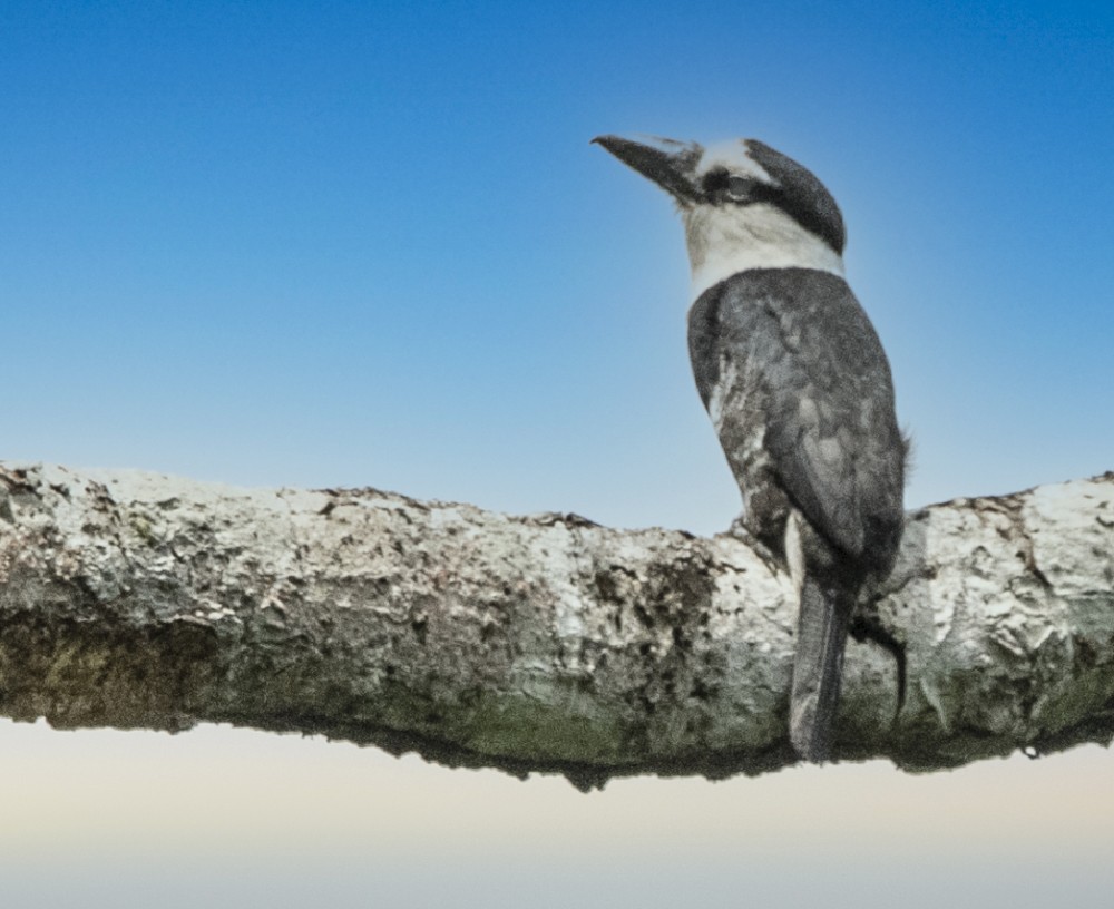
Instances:
[[[861,608],[907,677],[851,642],[841,759],[1110,744],[1114,473],[908,515]],[[225,722],[580,786],[758,773],[794,761],[794,612],[732,535],[0,465],[0,714],[57,727]]]

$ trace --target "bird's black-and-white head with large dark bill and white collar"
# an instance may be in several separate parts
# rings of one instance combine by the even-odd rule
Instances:
[[[693,296],[752,268],[843,275],[843,217],[808,168],[758,139],[705,148],[642,137],[593,139],[676,201],[685,224]]]

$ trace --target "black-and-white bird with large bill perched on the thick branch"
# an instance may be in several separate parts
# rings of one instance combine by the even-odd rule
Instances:
[[[692,270],[688,352],[743,498],[733,527],[792,578],[797,755],[832,759],[856,602],[903,529],[908,442],[881,341],[844,277],[836,199],[758,139],[594,143],[668,193]]]

